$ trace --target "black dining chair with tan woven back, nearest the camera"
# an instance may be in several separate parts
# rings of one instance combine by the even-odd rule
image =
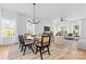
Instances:
[[[40,59],[42,60],[42,53],[48,52],[50,55],[49,47],[50,47],[51,36],[42,35],[41,40],[36,43],[36,53],[40,52]],[[47,48],[47,50],[45,50]]]

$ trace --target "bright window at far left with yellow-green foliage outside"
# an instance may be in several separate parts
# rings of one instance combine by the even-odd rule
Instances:
[[[2,37],[15,36],[15,20],[2,18],[1,31],[2,31]]]

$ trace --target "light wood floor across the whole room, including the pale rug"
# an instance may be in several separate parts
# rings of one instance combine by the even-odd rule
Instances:
[[[8,48],[0,47],[0,59],[10,59],[10,60],[40,60],[40,54],[34,54],[30,50],[27,49],[26,54],[19,49],[19,44],[12,44]],[[9,49],[9,50],[7,50]],[[9,51],[9,52],[8,52]],[[50,47],[50,55],[48,53],[44,54],[44,60],[86,60],[86,51],[77,50],[75,54],[71,53],[72,51],[64,47],[64,44],[52,43]],[[3,55],[2,55],[3,54]],[[8,55],[8,57],[7,57]],[[1,57],[2,56],[2,57]]]

